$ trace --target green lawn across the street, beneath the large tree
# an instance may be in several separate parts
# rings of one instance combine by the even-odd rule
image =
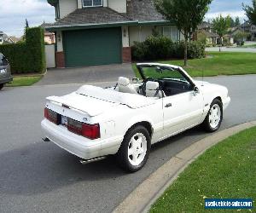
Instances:
[[[228,53],[209,52],[210,57],[189,60],[189,66],[184,69],[192,77],[217,75],[256,74],[256,54],[254,53]],[[166,60],[161,63],[183,66],[183,60]],[[133,69],[138,77],[136,66]]]

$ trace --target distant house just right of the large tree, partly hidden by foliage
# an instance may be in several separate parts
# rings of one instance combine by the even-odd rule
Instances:
[[[218,34],[214,32],[211,23],[203,21],[201,25],[198,26],[197,32],[201,32],[207,37],[207,44],[217,44]]]

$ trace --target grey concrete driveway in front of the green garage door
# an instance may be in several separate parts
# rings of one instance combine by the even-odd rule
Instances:
[[[36,85],[117,82],[119,76],[134,77],[131,64],[49,69],[44,78]]]

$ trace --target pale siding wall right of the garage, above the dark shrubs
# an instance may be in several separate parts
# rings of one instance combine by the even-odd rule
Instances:
[[[152,35],[154,26],[131,26],[129,27],[130,46],[134,42],[143,42]]]

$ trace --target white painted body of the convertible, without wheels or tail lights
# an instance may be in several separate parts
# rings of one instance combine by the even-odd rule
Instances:
[[[189,91],[164,98],[125,94],[113,88],[83,86],[70,95],[49,97],[46,107],[80,122],[99,124],[101,137],[87,139],[46,118],[42,121],[42,129],[50,141],[85,159],[117,153],[127,130],[141,122],[151,126],[151,143],[154,144],[201,124],[215,98],[222,101],[224,109],[229,105],[230,97],[225,87],[193,82],[199,88],[199,93]],[[172,107],[166,107],[170,103]],[[62,104],[70,108],[62,107]]]

